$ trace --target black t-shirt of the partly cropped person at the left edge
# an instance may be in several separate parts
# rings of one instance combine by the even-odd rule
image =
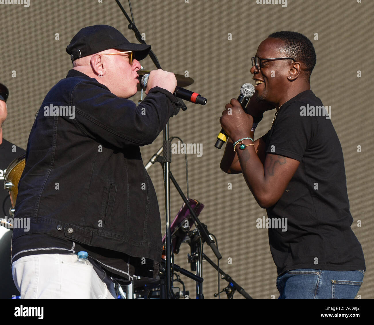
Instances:
[[[24,152],[24,149],[17,147],[5,139],[0,144],[0,219],[4,218],[4,216],[9,218],[9,209],[12,207],[9,193],[7,190],[4,190],[6,168]]]

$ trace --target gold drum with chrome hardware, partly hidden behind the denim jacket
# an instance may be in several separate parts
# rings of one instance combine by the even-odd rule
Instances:
[[[4,188],[9,192],[12,207],[9,209],[9,216],[14,217],[14,208],[18,195],[18,183],[25,168],[26,153],[21,154],[13,160],[5,172]]]

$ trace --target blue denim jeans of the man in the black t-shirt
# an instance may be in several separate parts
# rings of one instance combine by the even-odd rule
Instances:
[[[296,269],[277,278],[278,299],[354,299],[364,270]]]

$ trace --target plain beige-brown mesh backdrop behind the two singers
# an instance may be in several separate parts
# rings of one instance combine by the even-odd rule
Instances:
[[[128,2],[121,3],[130,13]],[[187,111],[173,117],[170,135],[202,144],[201,157],[188,154],[190,197],[205,204],[200,220],[218,238],[221,268],[254,298],[278,298],[267,230],[257,229],[255,222],[266,211],[257,205],[241,175],[230,176],[220,170],[223,150],[214,148],[221,129],[219,118],[224,105],[239,95],[240,86],[253,82],[249,72],[251,56],[270,33],[291,30],[312,40],[317,65],[311,86],[322,102],[332,107],[331,120],[344,153],[352,229],[365,255],[367,272],[359,295],[374,298],[373,1],[288,0],[287,7],[282,7],[257,4],[256,0],[133,0],[132,9],[138,29],[145,33],[163,69],[177,74],[188,72],[194,79],[188,89],[208,98],[205,106],[188,103]],[[114,0],[30,0],[29,7],[0,4],[0,18],[0,82],[10,91],[4,138],[23,148],[43,98],[71,68],[65,47],[80,28],[108,24],[137,42]],[[141,63],[147,70],[154,69],[149,58]],[[139,93],[132,98],[135,102],[139,99]],[[272,112],[265,115],[256,137],[270,129],[272,116]],[[145,163],[161,145],[162,134],[152,145],[142,148]],[[172,156],[171,171],[186,191],[183,154]],[[162,168],[154,165],[149,174],[164,223]],[[231,190],[228,183],[232,183]],[[183,201],[171,188],[174,218]],[[216,261],[211,249],[206,245],[204,248]],[[176,263],[186,269],[188,252],[187,244],[183,244],[175,256]],[[228,258],[232,264],[228,264]],[[217,272],[207,262],[203,267],[203,293],[205,298],[214,298]],[[194,283],[184,276],[182,279],[194,297]],[[221,280],[221,288],[225,286]],[[234,297],[242,298],[237,293]]]

